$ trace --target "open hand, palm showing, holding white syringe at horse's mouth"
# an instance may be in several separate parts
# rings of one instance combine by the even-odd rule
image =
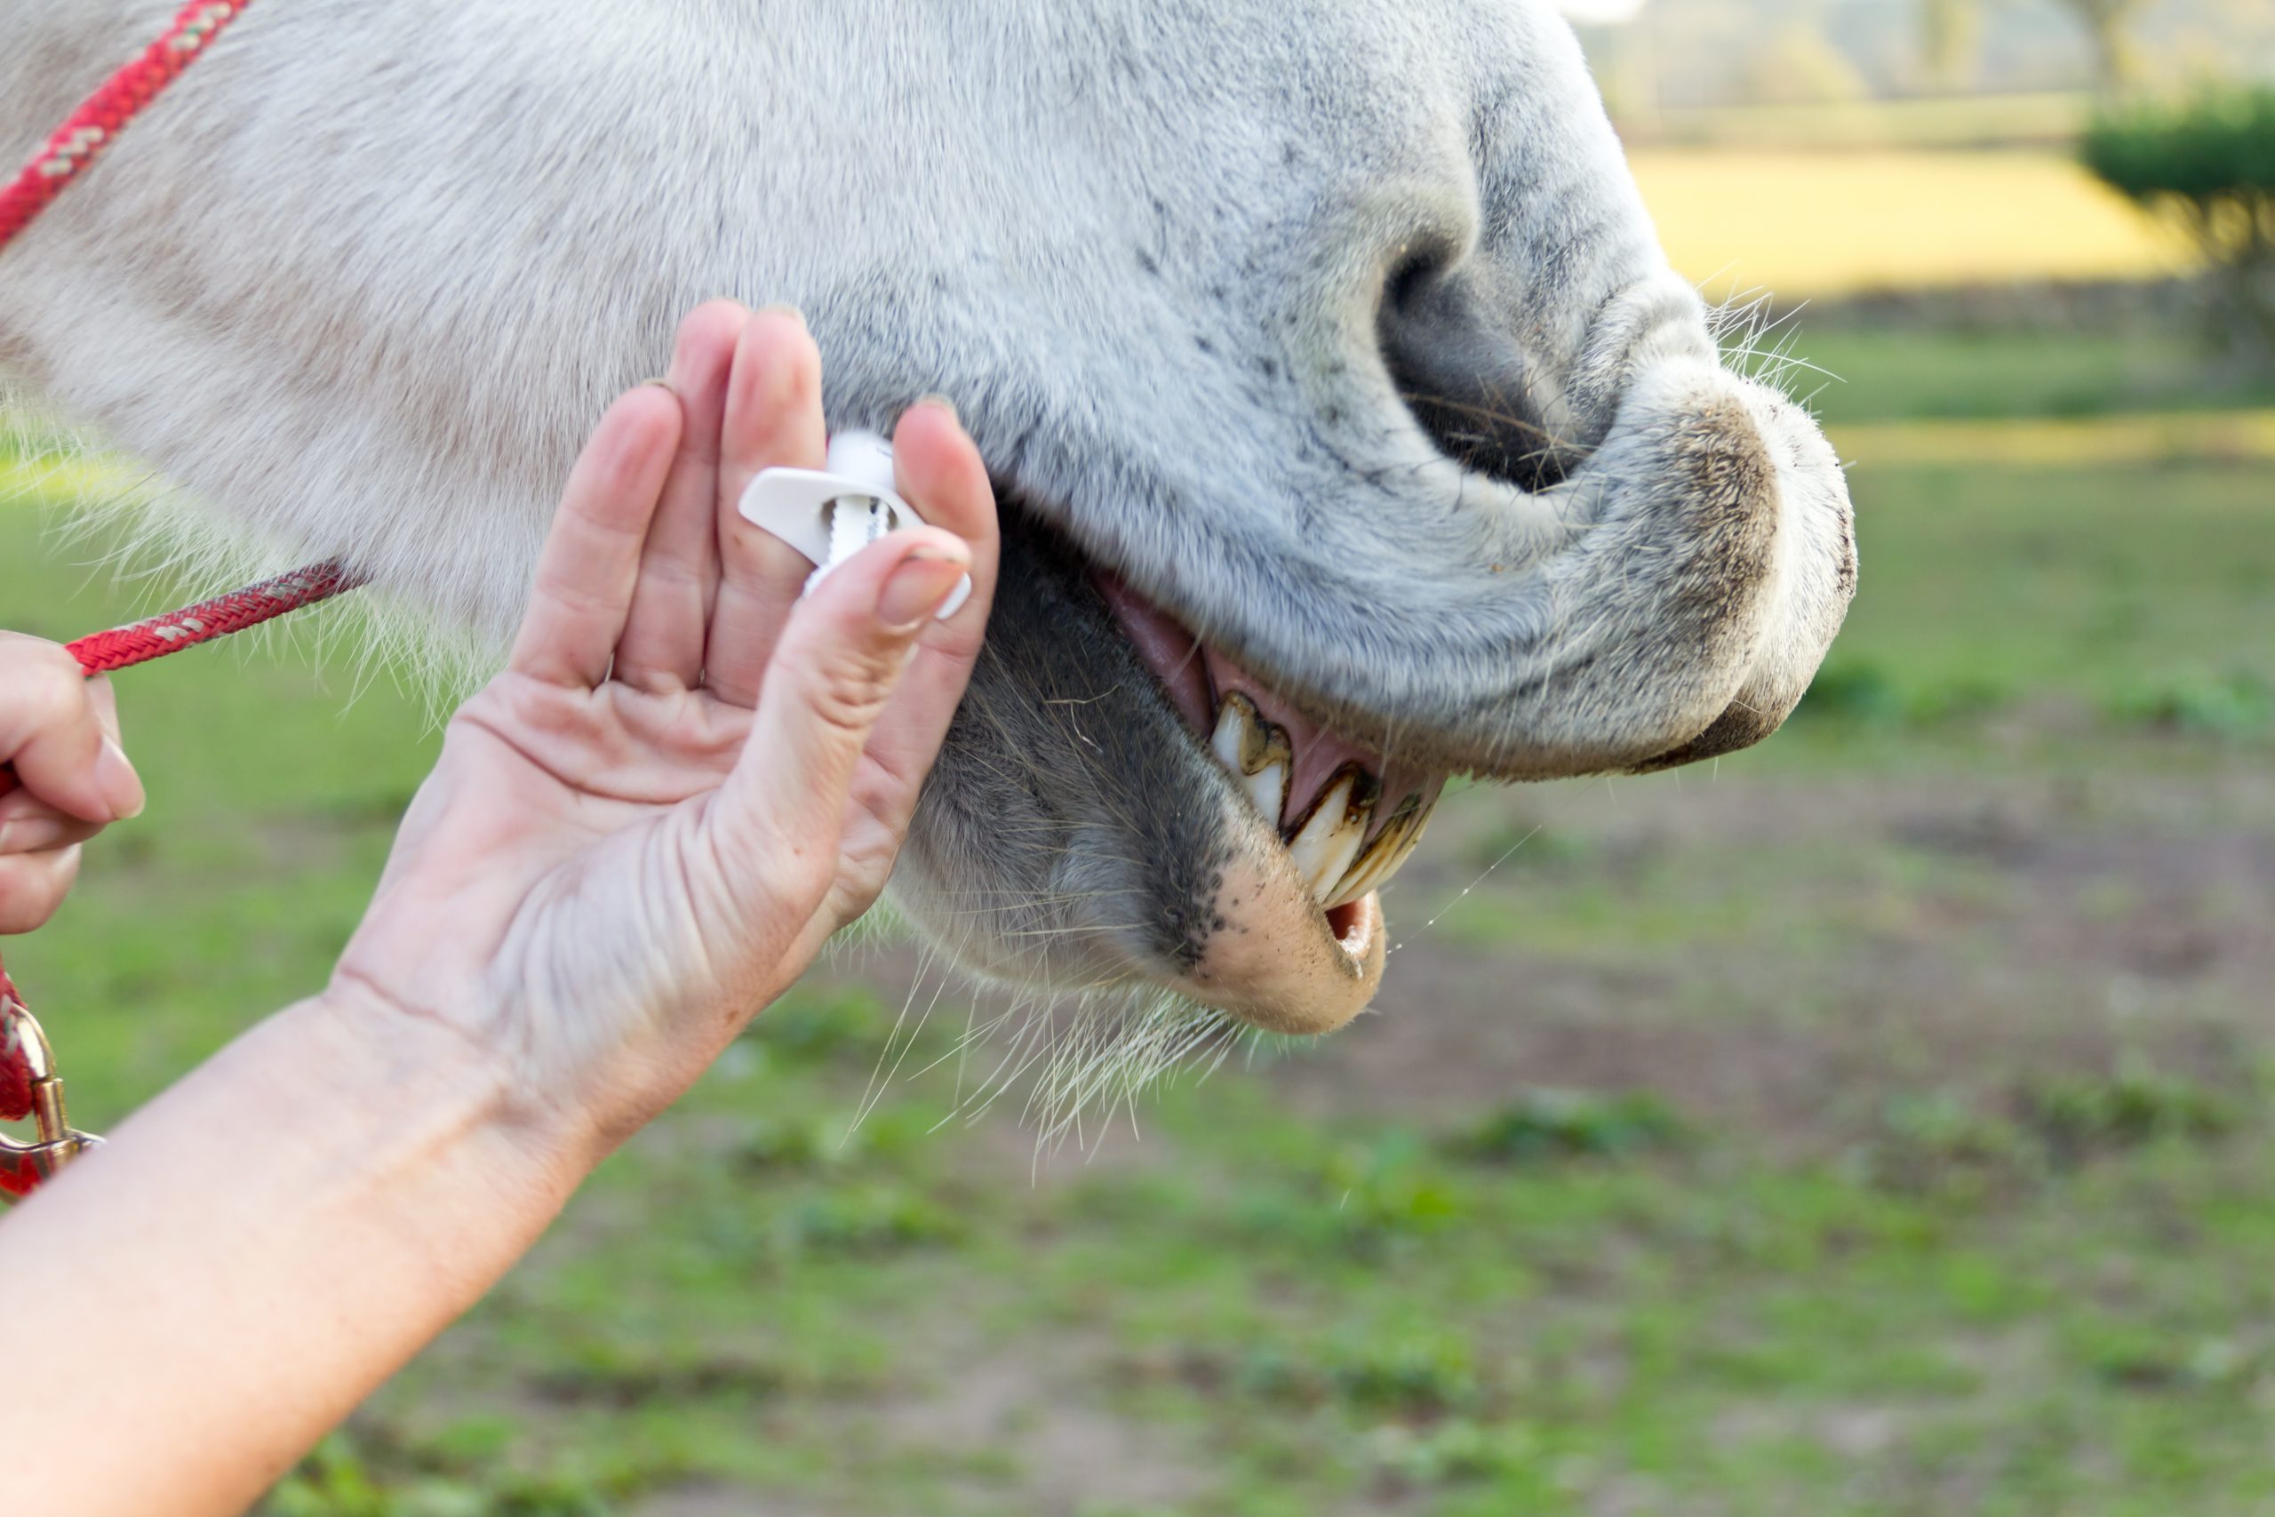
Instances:
[[[617,400],[328,992],[462,1030],[569,1142],[621,1142],[876,901],[978,655],[994,496],[946,405],[894,437],[933,525],[803,603],[742,521],[758,471],[824,464],[819,396],[803,321],[719,302]]]

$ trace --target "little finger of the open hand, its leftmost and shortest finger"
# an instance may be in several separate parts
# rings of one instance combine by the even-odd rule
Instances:
[[[680,403],[660,384],[619,396],[578,455],[537,555],[530,610],[507,666],[548,685],[607,678],[639,555],[680,446]]]

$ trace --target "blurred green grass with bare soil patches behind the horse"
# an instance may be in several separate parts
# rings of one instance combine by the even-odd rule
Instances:
[[[1843,425],[2268,403],[2154,341],[1804,350]],[[965,1008],[896,1035],[915,958],[849,951],[266,1510],[2275,1510],[2270,487],[1859,471],[1784,735],[1454,796],[1381,1014],[1081,1146],[956,1117]],[[0,623],[162,598],[52,519],[0,512]],[[150,814],[7,946],[91,1126],[321,983],[435,746],[289,648],[121,685]]]

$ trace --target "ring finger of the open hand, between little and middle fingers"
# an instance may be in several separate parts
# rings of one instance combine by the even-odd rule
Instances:
[[[642,689],[689,689],[703,678],[703,637],[719,589],[719,421],[735,341],[751,312],[698,305],[680,323],[664,380],[680,398],[680,448],[639,555],[632,612],[617,644],[617,678]]]

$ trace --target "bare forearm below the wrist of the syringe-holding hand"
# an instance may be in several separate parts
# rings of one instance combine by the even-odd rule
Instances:
[[[239,1512],[528,1249],[598,1155],[450,1026],[334,994],[0,1226],[20,1510]]]

